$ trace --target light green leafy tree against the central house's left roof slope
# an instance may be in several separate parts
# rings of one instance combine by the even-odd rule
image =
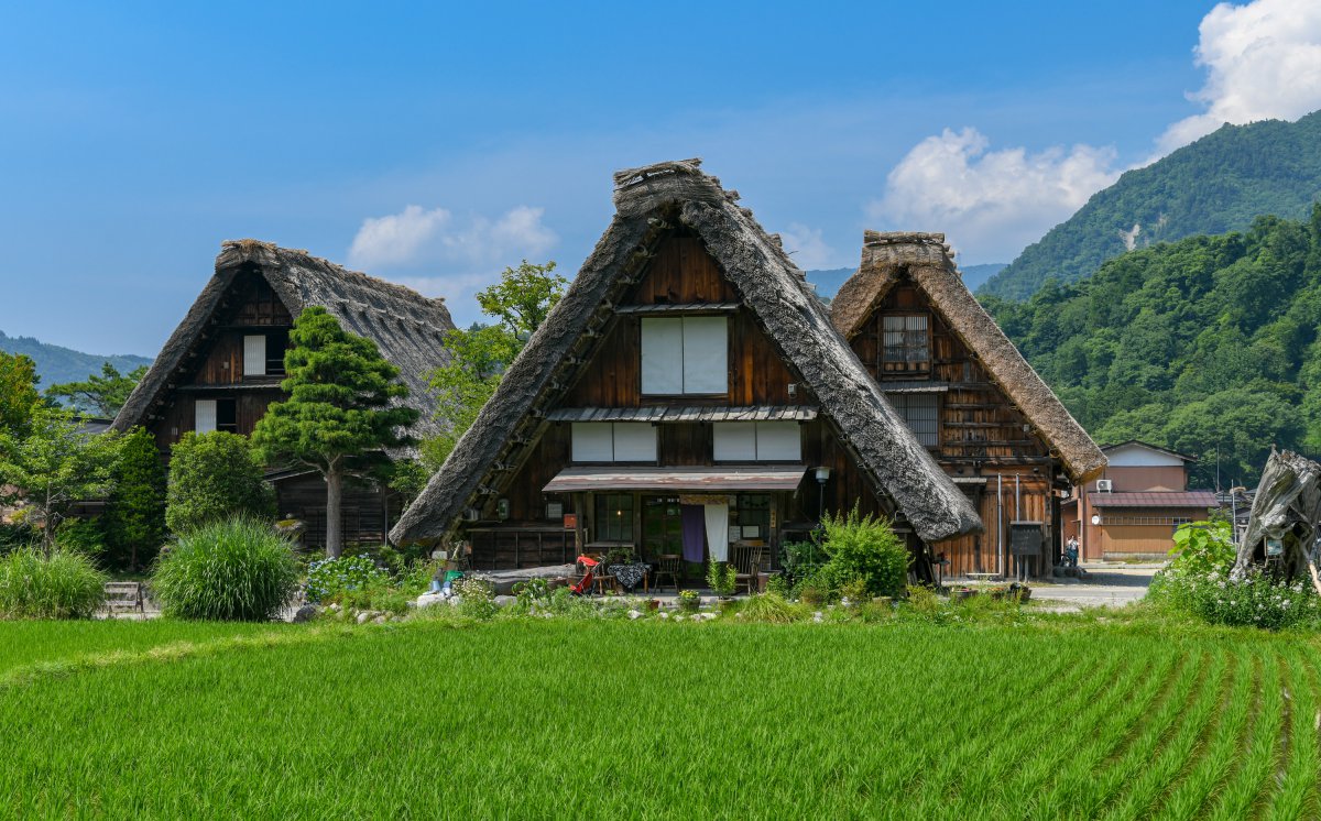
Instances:
[[[568,280],[553,271],[553,261],[536,265],[523,260],[518,268],[506,268],[499,282],[477,293],[482,312],[495,322],[446,334],[449,364],[431,374],[431,387],[440,397],[436,418],[444,433],[421,445],[431,470],[445,462],[495,392],[505,370],[564,296]]]

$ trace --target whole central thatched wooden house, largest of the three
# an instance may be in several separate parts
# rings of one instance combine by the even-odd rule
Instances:
[[[697,164],[616,176],[612,226],[396,542],[497,569],[769,557],[855,503],[914,544],[980,527],[778,238]]]

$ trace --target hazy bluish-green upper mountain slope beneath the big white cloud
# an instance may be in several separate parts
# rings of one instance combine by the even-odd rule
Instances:
[[[1225,125],[1127,172],[1029,246],[982,289],[1025,300],[1054,277],[1074,282],[1132,248],[1246,230],[1262,214],[1303,219],[1321,199],[1321,112],[1297,123]]]

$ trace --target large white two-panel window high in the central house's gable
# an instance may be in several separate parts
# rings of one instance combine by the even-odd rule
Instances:
[[[725,317],[643,319],[642,392],[728,393],[729,321]]]

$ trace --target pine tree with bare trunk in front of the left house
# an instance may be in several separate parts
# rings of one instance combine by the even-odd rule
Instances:
[[[326,556],[343,549],[341,499],[347,475],[379,473],[384,451],[413,443],[417,410],[400,405],[408,387],[376,345],[339,327],[324,308],[306,308],[284,355],[289,399],[272,403],[252,430],[268,465],[304,465],[326,480]]]

